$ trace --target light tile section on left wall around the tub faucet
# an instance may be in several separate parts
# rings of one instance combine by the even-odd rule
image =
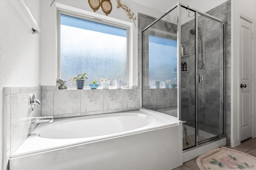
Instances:
[[[30,94],[41,100],[41,87],[5,87],[6,150],[13,154],[37,124],[30,123],[30,117],[41,116],[38,106],[34,111],[28,108]]]

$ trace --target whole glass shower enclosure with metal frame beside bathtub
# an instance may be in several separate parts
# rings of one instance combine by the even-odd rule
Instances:
[[[224,136],[225,23],[178,3],[142,31],[142,107],[183,121],[183,149]]]

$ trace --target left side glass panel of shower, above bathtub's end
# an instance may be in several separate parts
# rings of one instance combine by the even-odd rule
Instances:
[[[177,112],[177,8],[142,32],[142,107]]]

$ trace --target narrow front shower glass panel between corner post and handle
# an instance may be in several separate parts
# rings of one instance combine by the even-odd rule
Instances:
[[[195,12],[181,7],[181,116],[183,123],[183,149],[196,146],[196,72]],[[186,131],[185,131],[186,130]]]

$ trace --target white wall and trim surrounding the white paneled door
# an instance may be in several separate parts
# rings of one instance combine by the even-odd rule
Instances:
[[[240,117],[239,117],[239,14],[256,21],[256,1],[254,0],[231,0],[231,146],[240,144]],[[254,34],[256,30],[254,27]],[[255,42],[254,38],[254,42]],[[254,43],[255,44],[255,43]],[[254,53],[255,59],[255,53]],[[255,64],[256,65],[256,64]],[[255,70],[254,65],[254,70]],[[255,74],[255,72],[254,72]],[[255,81],[255,80],[254,80]],[[254,87],[255,90],[255,87]],[[254,96],[255,97],[255,96]],[[255,107],[255,104],[254,104]],[[254,108],[255,115],[255,108]]]

